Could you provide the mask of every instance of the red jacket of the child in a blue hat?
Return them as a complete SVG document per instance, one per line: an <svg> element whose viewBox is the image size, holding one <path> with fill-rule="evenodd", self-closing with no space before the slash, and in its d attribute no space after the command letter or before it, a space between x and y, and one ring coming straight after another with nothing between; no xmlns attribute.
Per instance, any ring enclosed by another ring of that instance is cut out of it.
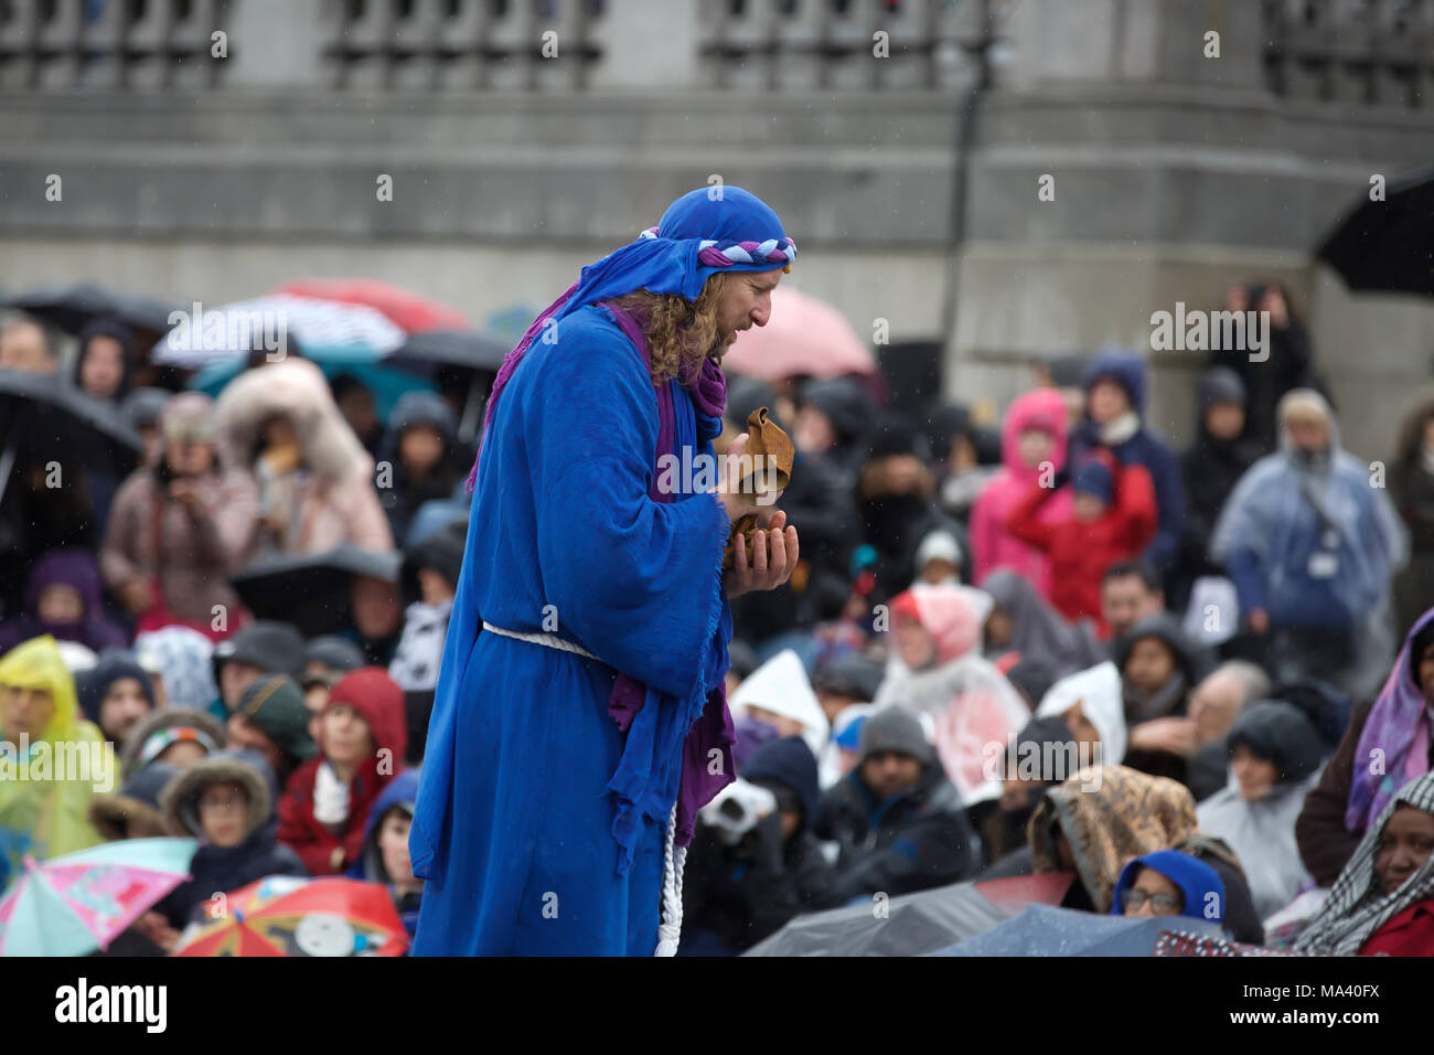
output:
<svg viewBox="0 0 1434 1055"><path fill-rule="evenodd" d="M1073 623L1090 616L1107 634L1100 616L1100 578L1111 564L1134 557L1154 538L1159 510L1150 472L1143 465L1114 466L1116 494L1100 520L1074 517L1043 521L1041 507L1055 488L1035 487L1007 517L1007 530L1051 558L1051 604Z"/></svg>

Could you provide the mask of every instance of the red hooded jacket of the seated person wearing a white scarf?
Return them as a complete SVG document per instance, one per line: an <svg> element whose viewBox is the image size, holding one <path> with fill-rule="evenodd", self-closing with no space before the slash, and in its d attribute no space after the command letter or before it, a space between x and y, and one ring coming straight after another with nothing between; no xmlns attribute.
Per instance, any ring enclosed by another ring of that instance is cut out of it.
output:
<svg viewBox="0 0 1434 1055"><path fill-rule="evenodd" d="M337 833L314 817L314 779L324 764L323 754L294 771L278 801L278 841L298 854L310 876L333 876L358 860L369 810L403 768L407 748L403 690L383 667L363 667L344 675L324 711L340 705L358 712L374 742L374 754L360 764L348 785L348 817ZM337 867L333 861L336 847L344 851L344 860Z"/></svg>

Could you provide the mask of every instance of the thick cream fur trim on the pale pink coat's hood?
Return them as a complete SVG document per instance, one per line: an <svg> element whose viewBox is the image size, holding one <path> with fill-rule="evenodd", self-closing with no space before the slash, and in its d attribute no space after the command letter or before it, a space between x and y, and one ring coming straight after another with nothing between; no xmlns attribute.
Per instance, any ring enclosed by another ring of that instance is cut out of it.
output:
<svg viewBox="0 0 1434 1055"><path fill-rule="evenodd" d="M285 359L241 373L219 393L219 442L228 464L251 465L270 415L294 422L304 464L328 482L373 475L373 458L344 421L323 372L304 359Z"/></svg>

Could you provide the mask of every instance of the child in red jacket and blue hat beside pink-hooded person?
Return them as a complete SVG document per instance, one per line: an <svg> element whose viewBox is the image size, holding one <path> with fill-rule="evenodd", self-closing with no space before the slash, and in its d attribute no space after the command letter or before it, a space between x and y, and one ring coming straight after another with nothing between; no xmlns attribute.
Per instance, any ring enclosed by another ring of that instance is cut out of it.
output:
<svg viewBox="0 0 1434 1055"><path fill-rule="evenodd" d="M1057 488L1032 487L1011 508L1007 528L1050 557L1055 610L1071 623L1090 617L1107 636L1101 578L1111 564L1140 553L1154 535L1154 491L1143 466L1121 468L1108 455L1077 465L1071 491L1071 515L1047 522L1041 512Z"/></svg>

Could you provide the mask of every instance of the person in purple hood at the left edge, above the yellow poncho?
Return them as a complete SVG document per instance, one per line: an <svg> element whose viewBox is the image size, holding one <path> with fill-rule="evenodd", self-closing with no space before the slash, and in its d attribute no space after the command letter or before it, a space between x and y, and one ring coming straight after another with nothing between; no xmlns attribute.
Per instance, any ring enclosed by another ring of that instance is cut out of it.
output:
<svg viewBox="0 0 1434 1055"><path fill-rule="evenodd" d="M87 551L52 550L34 563L24 586L24 611L0 623L0 655L43 634L96 653L129 646L129 636L105 619L99 568Z"/></svg>

